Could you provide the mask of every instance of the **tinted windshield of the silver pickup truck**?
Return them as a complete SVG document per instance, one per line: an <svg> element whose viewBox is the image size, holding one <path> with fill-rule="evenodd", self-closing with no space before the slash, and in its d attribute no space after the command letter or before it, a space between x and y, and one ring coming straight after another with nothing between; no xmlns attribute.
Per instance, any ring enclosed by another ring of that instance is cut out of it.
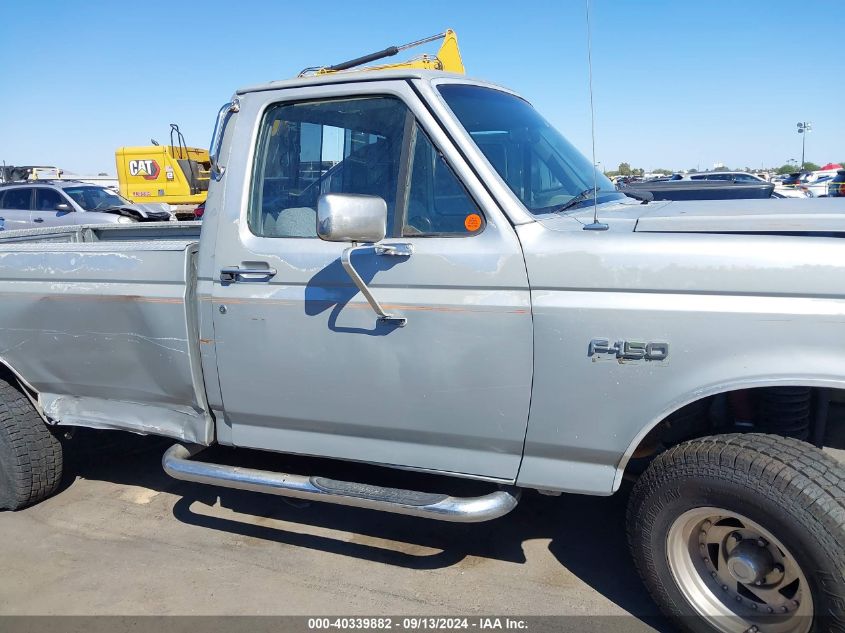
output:
<svg viewBox="0 0 845 633"><path fill-rule="evenodd" d="M625 197L523 99L466 84L442 84L437 89L490 164L532 213L591 205L594 171L599 203ZM587 189L590 195L582 195ZM575 198L580 201L574 202ZM574 203L567 205L570 200Z"/></svg>

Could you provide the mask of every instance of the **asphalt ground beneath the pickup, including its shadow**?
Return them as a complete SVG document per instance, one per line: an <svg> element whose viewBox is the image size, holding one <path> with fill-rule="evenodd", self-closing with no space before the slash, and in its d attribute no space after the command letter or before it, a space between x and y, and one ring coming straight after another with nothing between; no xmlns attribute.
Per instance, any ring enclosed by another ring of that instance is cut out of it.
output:
<svg viewBox="0 0 845 633"><path fill-rule="evenodd" d="M0 513L0 615L546 615L569 616L556 621L577 623L573 630L671 630L631 563L624 490L527 491L501 519L449 524L179 482L161 470L169 444L77 433L61 492ZM385 485L455 484L257 451L207 453ZM479 486L460 485L468 494Z"/></svg>

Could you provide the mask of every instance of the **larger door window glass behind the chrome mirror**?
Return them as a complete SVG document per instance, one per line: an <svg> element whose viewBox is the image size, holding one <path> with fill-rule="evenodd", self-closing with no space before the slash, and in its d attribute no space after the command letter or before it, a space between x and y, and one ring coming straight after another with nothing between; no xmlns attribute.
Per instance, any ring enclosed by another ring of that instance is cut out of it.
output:
<svg viewBox="0 0 845 633"><path fill-rule="evenodd" d="M380 196L395 213L406 106L392 97L279 104L264 116L249 227L263 237L316 237L324 193Z"/></svg>

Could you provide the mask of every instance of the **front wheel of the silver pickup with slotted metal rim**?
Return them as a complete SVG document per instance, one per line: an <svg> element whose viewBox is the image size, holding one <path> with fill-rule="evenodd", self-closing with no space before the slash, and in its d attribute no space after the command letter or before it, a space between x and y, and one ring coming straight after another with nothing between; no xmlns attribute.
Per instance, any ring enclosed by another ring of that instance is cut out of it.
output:
<svg viewBox="0 0 845 633"><path fill-rule="evenodd" d="M761 434L676 446L628 506L634 562L688 631L845 632L845 469Z"/></svg>

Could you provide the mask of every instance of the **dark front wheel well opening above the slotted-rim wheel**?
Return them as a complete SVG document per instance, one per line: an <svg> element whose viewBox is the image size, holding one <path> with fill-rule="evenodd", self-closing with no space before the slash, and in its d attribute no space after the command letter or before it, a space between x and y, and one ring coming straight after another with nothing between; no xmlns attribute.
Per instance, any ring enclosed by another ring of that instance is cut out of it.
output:
<svg viewBox="0 0 845 633"><path fill-rule="evenodd" d="M625 475L636 477L681 442L721 433L769 433L845 449L845 389L757 387L701 398L666 416L640 440Z"/></svg>

